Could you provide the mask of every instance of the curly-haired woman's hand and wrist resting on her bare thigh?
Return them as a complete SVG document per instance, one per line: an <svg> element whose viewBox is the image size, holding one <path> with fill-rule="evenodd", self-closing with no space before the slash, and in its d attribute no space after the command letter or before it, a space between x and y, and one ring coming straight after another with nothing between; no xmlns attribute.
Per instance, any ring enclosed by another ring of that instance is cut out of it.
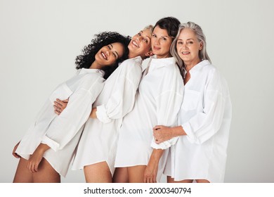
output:
<svg viewBox="0 0 274 197"><path fill-rule="evenodd" d="M27 168L30 170L30 172L37 172L39 163L41 162L44 153L49 149L50 147L46 144L39 144L39 146L36 148L34 153L30 156L29 160L27 161Z"/></svg>

